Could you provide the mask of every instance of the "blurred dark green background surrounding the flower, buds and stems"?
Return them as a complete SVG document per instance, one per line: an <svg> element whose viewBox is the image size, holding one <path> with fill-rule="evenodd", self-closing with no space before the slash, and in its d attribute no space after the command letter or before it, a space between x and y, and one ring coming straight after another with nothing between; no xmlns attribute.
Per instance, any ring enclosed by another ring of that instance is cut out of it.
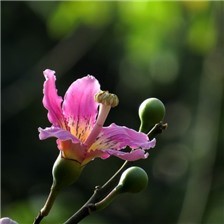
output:
<svg viewBox="0 0 224 224"><path fill-rule="evenodd" d="M86 224L224 223L224 2L1 2L1 216L32 223L52 183L55 139L42 106L43 70L63 96L94 75L119 96L107 124L138 130L148 97L166 106L169 128L147 160L148 188L123 195ZM122 164L96 159L58 197L43 224L60 224Z"/></svg>

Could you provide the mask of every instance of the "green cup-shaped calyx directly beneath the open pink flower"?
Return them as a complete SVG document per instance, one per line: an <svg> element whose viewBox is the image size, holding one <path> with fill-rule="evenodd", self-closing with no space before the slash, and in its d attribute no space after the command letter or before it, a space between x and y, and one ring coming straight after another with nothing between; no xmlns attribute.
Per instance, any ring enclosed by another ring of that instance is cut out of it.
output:
<svg viewBox="0 0 224 224"><path fill-rule="evenodd" d="M83 166L75 160L65 159L59 154L52 169L53 185L61 189L78 180Z"/></svg>

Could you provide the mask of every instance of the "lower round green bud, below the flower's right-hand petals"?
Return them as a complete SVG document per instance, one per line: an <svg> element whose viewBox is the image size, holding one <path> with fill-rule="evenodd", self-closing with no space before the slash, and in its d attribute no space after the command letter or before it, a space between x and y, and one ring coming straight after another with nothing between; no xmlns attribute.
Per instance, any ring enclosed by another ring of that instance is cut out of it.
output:
<svg viewBox="0 0 224 224"><path fill-rule="evenodd" d="M147 184L147 173L142 168L133 166L122 173L117 189L119 189L121 193L138 193L144 190Z"/></svg>

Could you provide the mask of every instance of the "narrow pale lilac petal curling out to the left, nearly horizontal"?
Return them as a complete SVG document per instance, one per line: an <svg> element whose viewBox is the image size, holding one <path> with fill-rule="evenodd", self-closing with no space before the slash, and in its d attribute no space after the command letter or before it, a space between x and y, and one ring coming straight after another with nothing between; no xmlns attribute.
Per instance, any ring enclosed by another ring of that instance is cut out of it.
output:
<svg viewBox="0 0 224 224"><path fill-rule="evenodd" d="M40 132L40 134L39 134L40 140L55 137L62 141L71 140L73 143L79 142L79 139L77 139L75 136L73 136L69 131L66 131L59 127L50 127L50 128L45 128L45 129L38 128L38 131Z"/></svg>

